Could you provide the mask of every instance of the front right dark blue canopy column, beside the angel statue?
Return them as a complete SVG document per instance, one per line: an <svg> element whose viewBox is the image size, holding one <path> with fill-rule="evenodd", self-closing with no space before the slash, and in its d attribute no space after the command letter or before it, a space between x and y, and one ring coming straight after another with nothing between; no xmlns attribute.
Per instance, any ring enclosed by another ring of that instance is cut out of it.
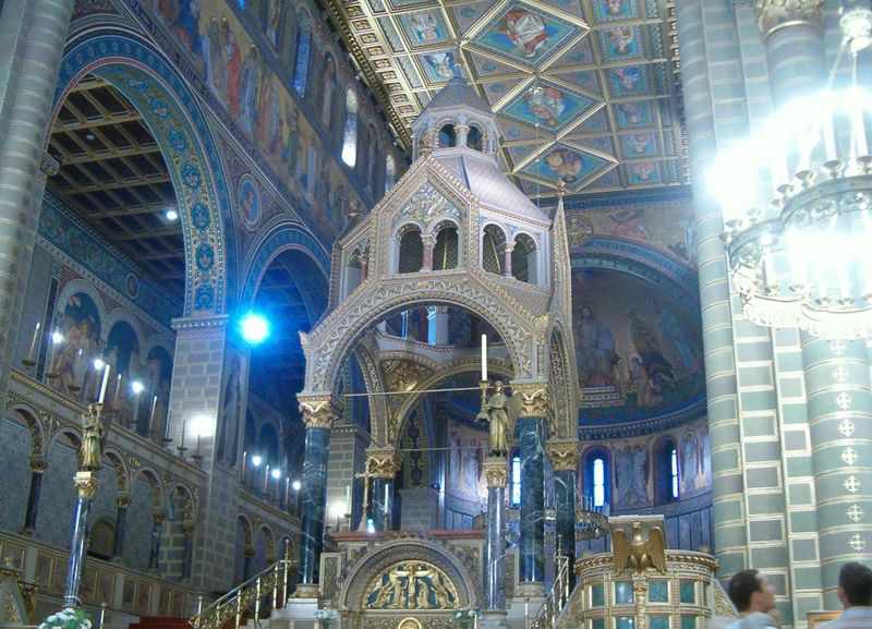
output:
<svg viewBox="0 0 872 629"><path fill-rule="evenodd" d="M518 419L521 446L520 581L524 595L544 595L545 581L545 435L549 413L545 383L512 384L522 396Z"/></svg>

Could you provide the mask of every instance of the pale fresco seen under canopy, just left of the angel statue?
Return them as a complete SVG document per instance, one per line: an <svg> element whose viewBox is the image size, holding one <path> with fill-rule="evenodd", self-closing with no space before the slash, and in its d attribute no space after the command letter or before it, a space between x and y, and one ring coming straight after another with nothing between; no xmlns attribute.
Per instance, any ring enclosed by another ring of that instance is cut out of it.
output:
<svg viewBox="0 0 872 629"><path fill-rule="evenodd" d="M449 467L447 486L464 500L487 500L487 480L482 464L487 452L487 433L461 422L448 425Z"/></svg>

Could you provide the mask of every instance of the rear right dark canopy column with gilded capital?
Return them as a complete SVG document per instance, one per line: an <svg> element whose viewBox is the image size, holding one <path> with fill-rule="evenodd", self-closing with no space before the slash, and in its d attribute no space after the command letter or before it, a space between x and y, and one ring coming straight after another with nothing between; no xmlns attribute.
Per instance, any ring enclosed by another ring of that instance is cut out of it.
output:
<svg viewBox="0 0 872 629"><path fill-rule="evenodd" d="M570 589L576 584L576 484L579 470L579 444L576 440L549 440L546 447L554 468L554 494L557 505L557 554L569 561Z"/></svg>

